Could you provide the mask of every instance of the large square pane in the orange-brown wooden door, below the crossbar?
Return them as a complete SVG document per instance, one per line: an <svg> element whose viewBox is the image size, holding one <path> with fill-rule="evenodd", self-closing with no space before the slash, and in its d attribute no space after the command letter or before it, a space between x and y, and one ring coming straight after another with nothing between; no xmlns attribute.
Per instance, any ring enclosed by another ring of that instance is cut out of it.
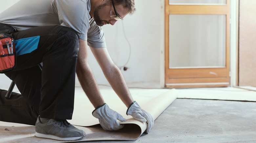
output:
<svg viewBox="0 0 256 143"><path fill-rule="evenodd" d="M169 68L225 67L225 15L169 15Z"/></svg>

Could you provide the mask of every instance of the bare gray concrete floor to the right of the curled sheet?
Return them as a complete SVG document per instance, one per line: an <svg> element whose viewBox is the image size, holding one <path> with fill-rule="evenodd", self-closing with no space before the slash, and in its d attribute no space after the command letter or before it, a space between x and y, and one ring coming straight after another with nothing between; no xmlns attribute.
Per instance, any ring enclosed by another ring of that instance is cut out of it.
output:
<svg viewBox="0 0 256 143"><path fill-rule="evenodd" d="M149 134L93 143L256 143L256 103L176 99Z"/></svg>

